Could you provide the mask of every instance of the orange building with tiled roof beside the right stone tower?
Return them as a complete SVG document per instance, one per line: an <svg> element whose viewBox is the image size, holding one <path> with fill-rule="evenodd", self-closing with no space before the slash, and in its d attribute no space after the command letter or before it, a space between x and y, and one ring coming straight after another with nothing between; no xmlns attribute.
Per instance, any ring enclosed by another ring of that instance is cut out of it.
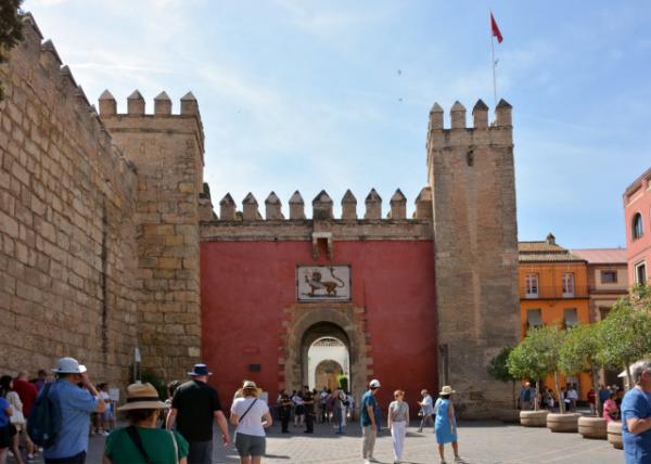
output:
<svg viewBox="0 0 651 464"><path fill-rule="evenodd" d="M532 326L557 324L571 327L590 323L588 263L557 245L552 234L540 242L520 242L520 323L522 338ZM561 387L576 384L586 399L590 376L580 373L560 378ZM545 385L553 389L553 377Z"/></svg>

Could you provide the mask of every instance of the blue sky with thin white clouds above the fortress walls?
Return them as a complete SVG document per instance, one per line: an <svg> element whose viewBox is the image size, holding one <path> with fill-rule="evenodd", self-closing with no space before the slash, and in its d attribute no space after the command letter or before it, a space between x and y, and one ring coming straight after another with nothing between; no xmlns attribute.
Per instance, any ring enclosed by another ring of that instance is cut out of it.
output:
<svg viewBox="0 0 651 464"><path fill-rule="evenodd" d="M426 184L434 102L513 105L520 240L625 245L622 193L651 166L651 2L26 0L91 101L196 95L213 203ZM448 124L446 115L446 125Z"/></svg>

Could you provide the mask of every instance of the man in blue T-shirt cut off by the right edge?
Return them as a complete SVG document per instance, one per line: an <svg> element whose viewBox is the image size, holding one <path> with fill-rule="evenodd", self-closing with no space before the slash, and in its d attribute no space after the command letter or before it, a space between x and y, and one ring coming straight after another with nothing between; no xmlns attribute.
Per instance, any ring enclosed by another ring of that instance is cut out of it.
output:
<svg viewBox="0 0 651 464"><path fill-rule="evenodd" d="M622 401L622 441L626 464L651 463L651 360L630 369L635 387Z"/></svg>

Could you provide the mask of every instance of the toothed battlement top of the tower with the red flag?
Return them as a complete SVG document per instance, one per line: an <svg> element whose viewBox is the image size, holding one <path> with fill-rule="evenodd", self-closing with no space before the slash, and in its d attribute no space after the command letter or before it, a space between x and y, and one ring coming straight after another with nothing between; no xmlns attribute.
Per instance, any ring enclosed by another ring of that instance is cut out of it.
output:
<svg viewBox="0 0 651 464"><path fill-rule="evenodd" d="M473 126L468 127L465 107L455 102L450 108L450 128L444 128L443 108L434 103L430 111L427 129L427 154L432 150L451 146L513 145L512 106L500 100L495 108L495 120L488 124L488 106L478 100L472 109Z"/></svg>

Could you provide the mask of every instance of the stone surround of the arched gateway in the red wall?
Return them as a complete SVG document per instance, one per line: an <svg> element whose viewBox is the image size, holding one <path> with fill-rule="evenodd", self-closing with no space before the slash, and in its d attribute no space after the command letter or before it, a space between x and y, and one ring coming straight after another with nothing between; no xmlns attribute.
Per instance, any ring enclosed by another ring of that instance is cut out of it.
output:
<svg viewBox="0 0 651 464"><path fill-rule="evenodd" d="M283 356L279 359L283 381L280 388L297 389L309 385L308 350L317 340L334 338L342 341L348 351L348 389L355 398L366 390L366 383L373 374L368 357L369 337L366 334L363 309L353 305L333 304L329 307L296 305L285 309L290 313L286 322ZM316 386L322 388L323 386Z"/></svg>

